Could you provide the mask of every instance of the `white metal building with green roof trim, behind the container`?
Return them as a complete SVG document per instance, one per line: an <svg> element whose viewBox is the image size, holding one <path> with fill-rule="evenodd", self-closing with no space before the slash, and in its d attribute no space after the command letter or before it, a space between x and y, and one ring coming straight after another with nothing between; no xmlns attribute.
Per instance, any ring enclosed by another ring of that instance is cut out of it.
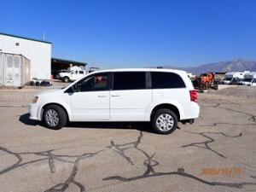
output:
<svg viewBox="0 0 256 192"><path fill-rule="evenodd" d="M31 61L31 78L50 79L51 43L0 33L0 51L26 56Z"/></svg>

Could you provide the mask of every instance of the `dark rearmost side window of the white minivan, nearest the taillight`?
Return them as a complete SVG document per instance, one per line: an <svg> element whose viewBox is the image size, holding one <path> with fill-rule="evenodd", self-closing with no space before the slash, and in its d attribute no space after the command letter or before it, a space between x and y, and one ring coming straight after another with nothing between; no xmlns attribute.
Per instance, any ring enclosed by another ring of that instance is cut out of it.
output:
<svg viewBox="0 0 256 192"><path fill-rule="evenodd" d="M183 79L176 73L152 72L152 89L184 88Z"/></svg>

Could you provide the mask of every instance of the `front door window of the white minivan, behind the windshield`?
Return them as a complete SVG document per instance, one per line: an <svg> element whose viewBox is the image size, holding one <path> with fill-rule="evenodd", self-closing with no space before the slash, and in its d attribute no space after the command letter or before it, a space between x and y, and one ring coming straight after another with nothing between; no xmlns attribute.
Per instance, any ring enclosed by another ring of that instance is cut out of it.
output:
<svg viewBox="0 0 256 192"><path fill-rule="evenodd" d="M78 82L78 91L99 91L108 90L108 73L99 73L91 75Z"/></svg>

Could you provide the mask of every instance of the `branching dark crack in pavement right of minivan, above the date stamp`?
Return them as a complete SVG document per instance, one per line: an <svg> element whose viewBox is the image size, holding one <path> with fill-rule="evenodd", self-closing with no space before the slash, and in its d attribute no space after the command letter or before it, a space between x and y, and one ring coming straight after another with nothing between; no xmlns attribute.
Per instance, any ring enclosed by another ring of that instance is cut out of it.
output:
<svg viewBox="0 0 256 192"><path fill-rule="evenodd" d="M207 150L212 151L212 153L214 153L214 154L218 154L218 156L220 156L220 157L222 157L222 158L226 158L226 157L224 156L224 154L220 154L218 151L212 149L212 148L209 146L209 144L210 144L210 143L214 143L215 140L214 140L212 137L207 136L207 134L222 135L222 136L224 136L224 137L232 137L232 138L236 138L236 137L241 137L241 136L242 136L242 132L239 133L239 135L236 135L236 136L229 136L229 135L224 134L223 132L210 132L210 131L207 131L207 132L191 132L191 131L185 131L185 132L188 132L188 133L190 133L190 134L200 135L200 136L202 136L202 137L207 138L207 140L204 141L204 142L197 142L197 143L190 143L190 144L187 144L187 145L183 145L183 146L182 146L183 148L187 148L187 147L204 148L204 149L207 149Z"/></svg>

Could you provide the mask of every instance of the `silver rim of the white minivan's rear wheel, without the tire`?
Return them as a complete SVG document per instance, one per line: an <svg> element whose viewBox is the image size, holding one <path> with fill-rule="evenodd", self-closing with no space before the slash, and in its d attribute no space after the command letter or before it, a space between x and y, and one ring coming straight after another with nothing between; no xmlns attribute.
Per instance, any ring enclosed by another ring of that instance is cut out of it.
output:
<svg viewBox="0 0 256 192"><path fill-rule="evenodd" d="M160 131L170 131L172 130L173 125L174 120L172 115L168 113L163 113L156 119L156 126Z"/></svg>

